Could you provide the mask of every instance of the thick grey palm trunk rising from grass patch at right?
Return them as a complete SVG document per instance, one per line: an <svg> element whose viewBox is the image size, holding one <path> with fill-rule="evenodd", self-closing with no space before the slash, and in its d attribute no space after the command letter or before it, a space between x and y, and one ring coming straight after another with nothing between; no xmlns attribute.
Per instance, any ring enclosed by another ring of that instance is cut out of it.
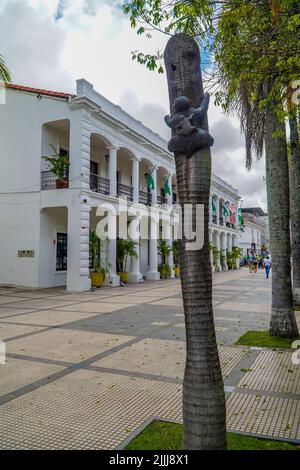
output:
<svg viewBox="0 0 300 470"><path fill-rule="evenodd" d="M272 89L269 83L269 90ZM270 99L266 112L266 175L272 251L272 313L270 335L298 335L291 282L289 173L285 124L278 118L278 102ZM277 135L275 135L275 132ZM280 133L280 136L278 134Z"/></svg>

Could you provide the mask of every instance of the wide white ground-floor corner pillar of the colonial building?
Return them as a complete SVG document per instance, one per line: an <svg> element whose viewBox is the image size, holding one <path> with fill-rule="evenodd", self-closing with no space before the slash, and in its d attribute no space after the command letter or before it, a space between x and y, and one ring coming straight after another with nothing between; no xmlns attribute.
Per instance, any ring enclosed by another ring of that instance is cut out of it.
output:
<svg viewBox="0 0 300 470"><path fill-rule="evenodd" d="M68 207L68 291L82 292L91 288L89 228L89 204L75 201Z"/></svg>

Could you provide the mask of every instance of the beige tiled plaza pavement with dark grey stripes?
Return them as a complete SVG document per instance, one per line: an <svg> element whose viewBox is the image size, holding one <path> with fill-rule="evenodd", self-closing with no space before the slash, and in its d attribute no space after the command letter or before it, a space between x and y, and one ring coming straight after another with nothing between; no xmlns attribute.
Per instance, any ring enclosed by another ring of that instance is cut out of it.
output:
<svg viewBox="0 0 300 470"><path fill-rule="evenodd" d="M228 429L300 442L291 353L232 346L268 327L270 283L216 274L214 314ZM152 416L180 421L184 338L176 280L83 294L0 288L0 448L113 449Z"/></svg>

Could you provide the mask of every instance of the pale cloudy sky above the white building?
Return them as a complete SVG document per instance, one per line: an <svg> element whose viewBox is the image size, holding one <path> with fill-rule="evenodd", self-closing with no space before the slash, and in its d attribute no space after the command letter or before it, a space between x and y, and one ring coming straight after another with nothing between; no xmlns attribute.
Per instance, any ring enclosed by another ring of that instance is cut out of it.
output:
<svg viewBox="0 0 300 470"><path fill-rule="evenodd" d="M168 139L166 76L131 60L131 51L163 51L167 37L136 35L120 9L121 0L0 0L0 53L13 82L75 91L85 78L102 95ZM212 100L213 102L213 100ZM266 209L264 161L245 169L244 139L238 121L213 103L213 171L234 187L243 207Z"/></svg>

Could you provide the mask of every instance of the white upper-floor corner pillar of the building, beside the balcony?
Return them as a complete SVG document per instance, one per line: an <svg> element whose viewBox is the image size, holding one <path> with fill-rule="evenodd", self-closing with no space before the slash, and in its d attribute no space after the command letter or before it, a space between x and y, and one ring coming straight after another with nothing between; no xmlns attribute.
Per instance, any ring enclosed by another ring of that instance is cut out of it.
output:
<svg viewBox="0 0 300 470"><path fill-rule="evenodd" d="M90 189L90 139L89 113L74 113L70 122L70 188Z"/></svg>

